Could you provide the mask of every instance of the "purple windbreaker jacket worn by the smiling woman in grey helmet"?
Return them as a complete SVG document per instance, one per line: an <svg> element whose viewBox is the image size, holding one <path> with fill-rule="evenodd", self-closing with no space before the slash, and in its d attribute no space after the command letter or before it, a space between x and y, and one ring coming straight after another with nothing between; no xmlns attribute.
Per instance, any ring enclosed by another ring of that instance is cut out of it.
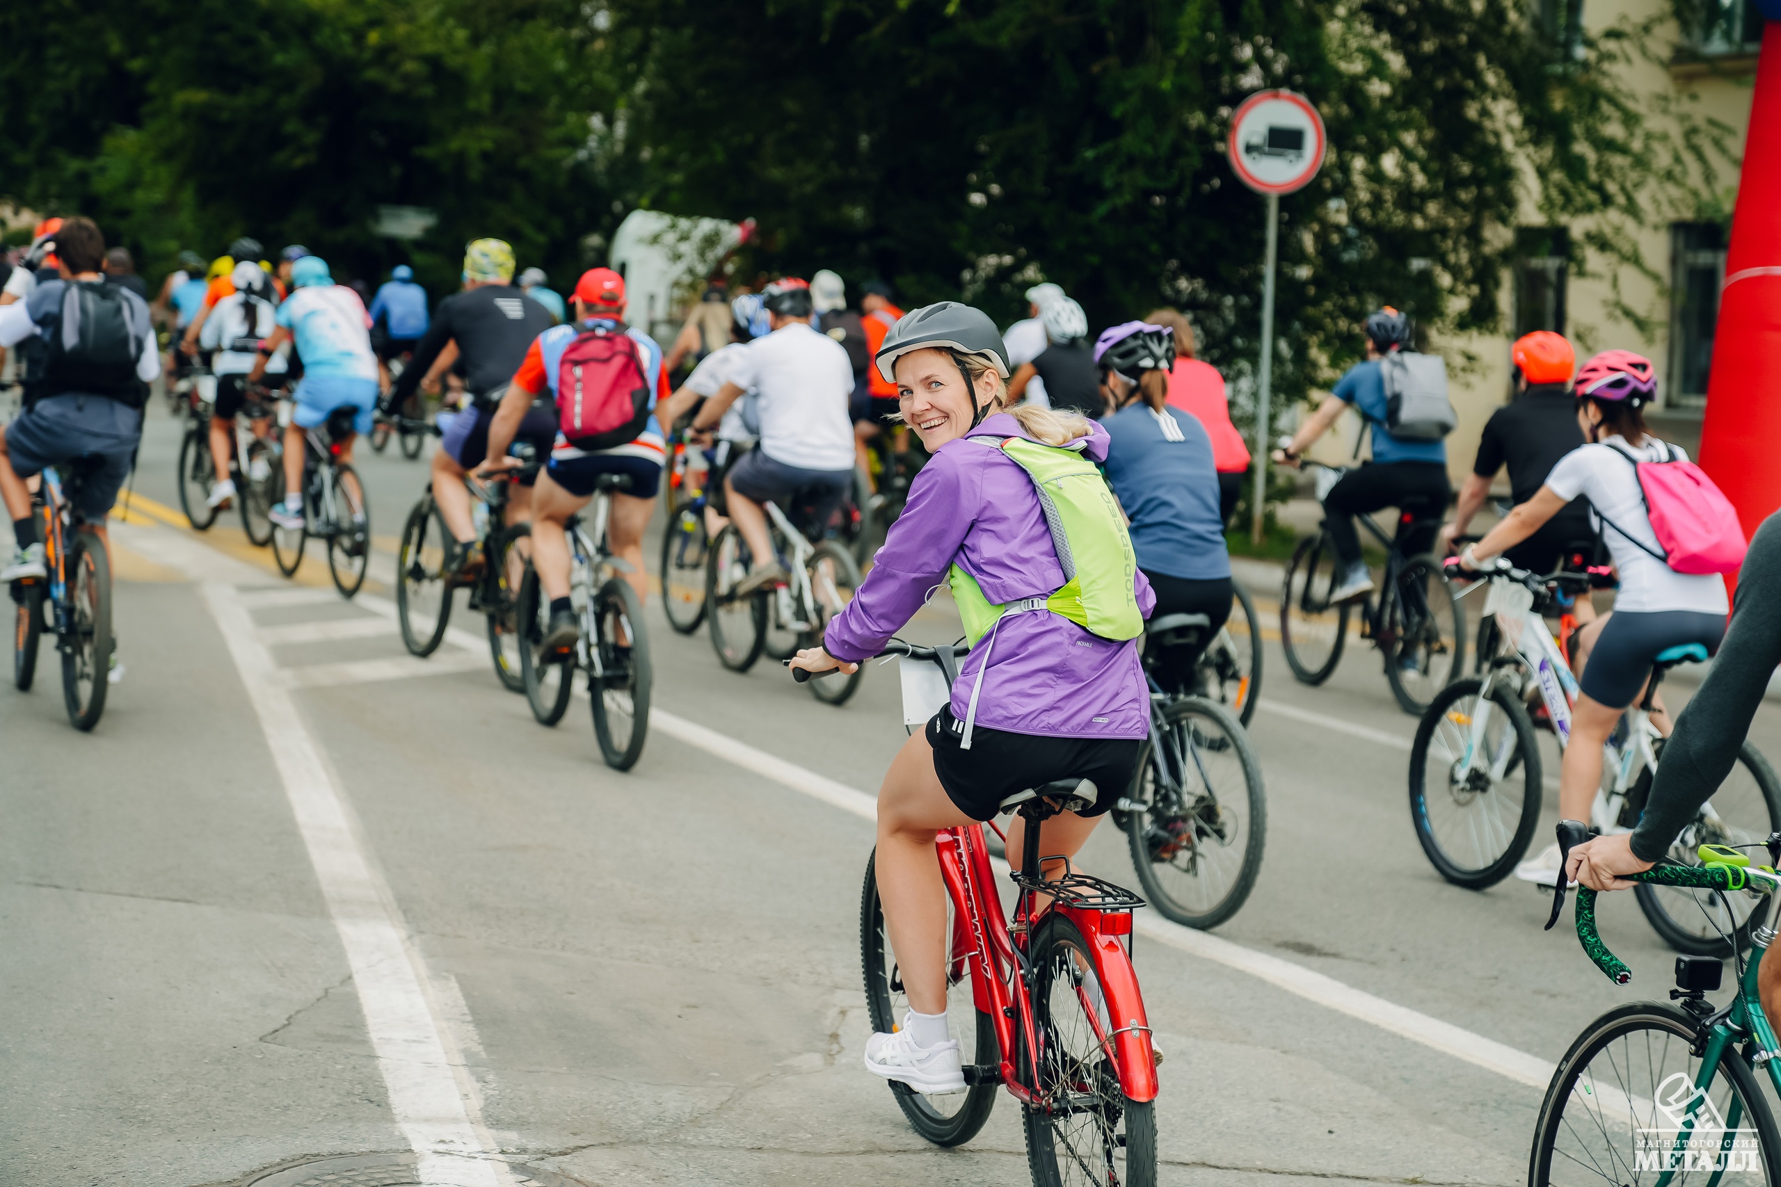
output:
<svg viewBox="0 0 1781 1187"><path fill-rule="evenodd" d="M987 416L965 436L1031 440L1006 413ZM1094 425L1085 454L1106 461L1106 429ZM942 445L915 475L908 505L890 527L871 575L828 623L823 646L837 660L876 655L928 591L946 582L953 561L997 605L1044 598L1063 585L1033 479L1012 457L965 440ZM1134 593L1138 610L1151 618L1156 594L1143 573L1136 573ZM983 650L980 641L953 683L953 715L960 721ZM1003 619L983 674L978 726L1044 737L1143 739L1149 723L1151 694L1136 639L1113 642L1060 614Z"/></svg>

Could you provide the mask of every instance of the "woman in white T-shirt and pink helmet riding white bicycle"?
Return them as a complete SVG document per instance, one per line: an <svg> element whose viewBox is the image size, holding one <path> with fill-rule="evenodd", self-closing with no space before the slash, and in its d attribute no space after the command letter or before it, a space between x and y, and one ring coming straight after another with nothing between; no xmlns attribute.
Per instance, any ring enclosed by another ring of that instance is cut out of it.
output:
<svg viewBox="0 0 1781 1187"><path fill-rule="evenodd" d="M1560 457L1533 498L1460 555L1460 568L1476 569L1582 495L1621 578L1614 612L1583 626L1571 644L1583 690L1571 710L1571 742L1558 774L1560 844L1516 870L1517 877L1546 886L1557 883L1564 851L1589 835L1589 808L1601 785L1601 747L1626 707L1644 696L1653 660L1687 642L1719 651L1731 609L1717 573L1678 573L1660 559L1663 546L1646 514L1637 463L1687 461L1687 456L1646 431L1642 409L1656 395L1651 359L1606 351L1583 363L1574 390L1578 427L1589 443ZM1651 724L1669 737L1662 698L1653 705Z"/></svg>

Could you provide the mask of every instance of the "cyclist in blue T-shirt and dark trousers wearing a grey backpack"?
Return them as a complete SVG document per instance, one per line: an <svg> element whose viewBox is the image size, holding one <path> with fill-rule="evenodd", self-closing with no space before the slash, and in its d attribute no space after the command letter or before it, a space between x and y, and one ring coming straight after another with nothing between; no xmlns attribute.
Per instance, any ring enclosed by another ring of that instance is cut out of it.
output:
<svg viewBox="0 0 1781 1187"><path fill-rule="evenodd" d="M1354 516L1403 507L1407 502L1427 509L1428 514L1419 518L1428 518L1428 539L1407 539L1403 548L1427 552L1446 509L1452 489L1446 480L1446 445L1400 440L1386 427L1389 409L1378 359L1409 343L1411 319L1398 310L1386 306L1368 317L1366 361L1348 368L1348 374L1336 383L1336 392L1305 420L1286 448L1273 450L1275 463L1297 466L1298 456L1311 448L1348 408L1357 409L1373 431L1373 459L1345 473L1323 497L1330 543L1336 545L1336 559L1343 566L1336 589L1330 591L1330 602L1364 598L1373 591L1373 578L1368 577L1366 561L1361 559L1361 536L1355 532Z"/></svg>

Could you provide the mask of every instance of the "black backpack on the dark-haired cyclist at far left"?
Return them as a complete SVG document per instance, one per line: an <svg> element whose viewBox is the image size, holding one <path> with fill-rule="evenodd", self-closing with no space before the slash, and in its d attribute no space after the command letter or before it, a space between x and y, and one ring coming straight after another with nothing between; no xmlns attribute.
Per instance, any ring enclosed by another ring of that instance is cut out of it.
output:
<svg viewBox="0 0 1781 1187"><path fill-rule="evenodd" d="M148 304L119 285L68 281L57 317L39 322L46 342L43 395L103 395L142 408L148 384L135 363L148 342Z"/></svg>

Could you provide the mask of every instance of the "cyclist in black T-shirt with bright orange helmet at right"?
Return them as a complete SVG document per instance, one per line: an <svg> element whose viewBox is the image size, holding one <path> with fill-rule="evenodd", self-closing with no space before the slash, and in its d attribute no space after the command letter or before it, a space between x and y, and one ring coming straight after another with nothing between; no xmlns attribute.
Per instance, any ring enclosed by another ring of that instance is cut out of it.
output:
<svg viewBox="0 0 1781 1187"><path fill-rule="evenodd" d="M1464 536L1471 518L1491 495L1491 480L1509 464L1509 491L1519 507L1535 495L1558 459L1583 443L1576 425L1576 400L1571 399L1571 374L1576 354L1564 335L1537 329L1514 345L1516 399L1491 413L1478 440L1478 459L1466 475L1453 507L1453 520L1441 529L1443 552L1453 550L1453 537ZM1503 555L1530 573L1551 573L1567 552L1582 548L1594 555L1596 532L1589 525L1589 504L1571 502L1541 525L1533 536ZM1596 618L1589 598L1578 598L1578 621Z"/></svg>

